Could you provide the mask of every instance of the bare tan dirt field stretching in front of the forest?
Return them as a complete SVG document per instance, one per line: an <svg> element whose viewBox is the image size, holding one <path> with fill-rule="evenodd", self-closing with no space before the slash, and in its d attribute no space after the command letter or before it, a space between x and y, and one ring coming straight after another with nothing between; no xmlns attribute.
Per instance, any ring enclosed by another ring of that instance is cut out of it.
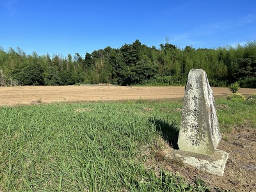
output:
<svg viewBox="0 0 256 192"><path fill-rule="evenodd" d="M228 88L212 88L214 96L230 94ZM255 89L241 88L249 95ZM96 100L175 99L184 96L182 86L15 86L0 87L0 106Z"/></svg>

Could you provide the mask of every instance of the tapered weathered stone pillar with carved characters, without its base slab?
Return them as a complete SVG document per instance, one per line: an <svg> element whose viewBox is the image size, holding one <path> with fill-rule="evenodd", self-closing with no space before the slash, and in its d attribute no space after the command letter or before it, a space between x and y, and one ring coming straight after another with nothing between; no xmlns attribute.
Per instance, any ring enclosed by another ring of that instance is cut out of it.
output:
<svg viewBox="0 0 256 192"><path fill-rule="evenodd" d="M221 140L216 106L207 75L192 69L186 84L178 145L180 150L211 155Z"/></svg>

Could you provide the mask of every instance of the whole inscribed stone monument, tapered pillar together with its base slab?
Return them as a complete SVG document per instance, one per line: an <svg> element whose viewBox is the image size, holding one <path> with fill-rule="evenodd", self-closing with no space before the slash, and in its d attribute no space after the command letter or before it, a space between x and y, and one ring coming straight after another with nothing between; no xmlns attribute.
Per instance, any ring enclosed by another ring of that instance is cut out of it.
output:
<svg viewBox="0 0 256 192"><path fill-rule="evenodd" d="M176 156L182 158L183 163L223 175L228 154L217 149L220 140L216 106L207 75L202 69L192 69L185 88L178 140L180 152Z"/></svg>

